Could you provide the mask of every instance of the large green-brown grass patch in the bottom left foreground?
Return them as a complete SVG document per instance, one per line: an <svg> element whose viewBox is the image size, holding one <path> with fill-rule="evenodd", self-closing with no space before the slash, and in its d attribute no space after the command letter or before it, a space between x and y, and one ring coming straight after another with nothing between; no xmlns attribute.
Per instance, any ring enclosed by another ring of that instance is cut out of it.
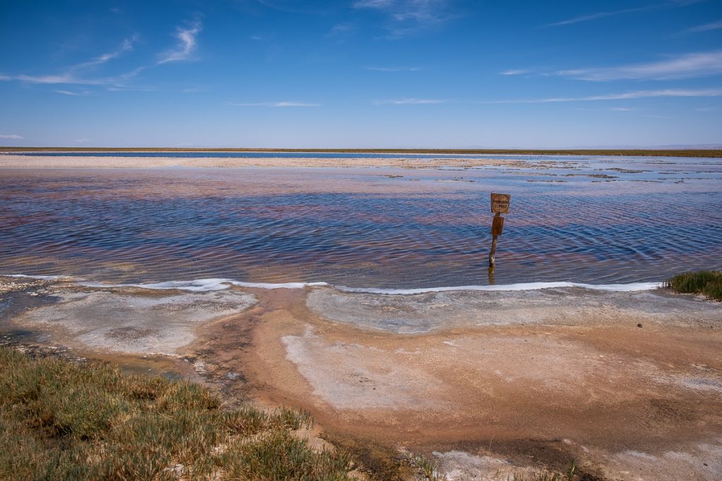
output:
<svg viewBox="0 0 722 481"><path fill-rule="evenodd" d="M304 413L225 410L197 384L0 348L0 479L347 480Z"/></svg>

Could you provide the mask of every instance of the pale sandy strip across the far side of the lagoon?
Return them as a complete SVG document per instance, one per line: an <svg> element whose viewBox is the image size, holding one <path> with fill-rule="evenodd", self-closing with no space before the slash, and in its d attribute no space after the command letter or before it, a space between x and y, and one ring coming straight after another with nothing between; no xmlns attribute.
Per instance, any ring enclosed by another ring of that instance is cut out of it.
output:
<svg viewBox="0 0 722 481"><path fill-rule="evenodd" d="M113 156L25 156L0 154L0 168L13 169L145 169L151 167L529 167L532 163L518 159L284 159L239 157L113 157ZM542 164L549 167L548 164Z"/></svg>

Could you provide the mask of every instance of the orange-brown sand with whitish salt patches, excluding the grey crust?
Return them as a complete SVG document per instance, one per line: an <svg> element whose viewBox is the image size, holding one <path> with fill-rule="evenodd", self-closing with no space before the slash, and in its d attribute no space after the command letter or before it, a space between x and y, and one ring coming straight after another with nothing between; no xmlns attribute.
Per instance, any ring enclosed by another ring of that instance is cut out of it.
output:
<svg viewBox="0 0 722 481"><path fill-rule="evenodd" d="M500 468L474 468L484 455L557 468L574 458L623 480L722 472L719 312L712 328L600 312L397 335L329 322L302 291L258 296L233 321L253 325L251 339L225 323L206 353L242 371L256 399L303 407L333 433L435 451L458 479Z"/></svg>

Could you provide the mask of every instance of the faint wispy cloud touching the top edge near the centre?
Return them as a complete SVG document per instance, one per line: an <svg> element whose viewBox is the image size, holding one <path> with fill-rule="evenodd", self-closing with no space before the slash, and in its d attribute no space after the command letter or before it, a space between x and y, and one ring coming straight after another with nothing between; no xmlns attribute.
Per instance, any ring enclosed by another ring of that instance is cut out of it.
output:
<svg viewBox="0 0 722 481"><path fill-rule="evenodd" d="M356 0L353 6L383 13L384 27L391 38L438 27L453 18L448 11L448 0Z"/></svg>

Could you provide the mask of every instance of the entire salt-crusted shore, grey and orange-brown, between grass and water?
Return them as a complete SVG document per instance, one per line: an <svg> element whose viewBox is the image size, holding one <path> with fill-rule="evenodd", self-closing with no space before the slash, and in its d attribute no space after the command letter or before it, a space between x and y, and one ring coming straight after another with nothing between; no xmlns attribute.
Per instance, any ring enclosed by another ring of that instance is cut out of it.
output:
<svg viewBox="0 0 722 481"><path fill-rule="evenodd" d="M309 410L331 440L425 454L450 480L573 459L587 479L722 473L722 305L694 296L0 281L5 330L101 357L195 356L261 405Z"/></svg>

